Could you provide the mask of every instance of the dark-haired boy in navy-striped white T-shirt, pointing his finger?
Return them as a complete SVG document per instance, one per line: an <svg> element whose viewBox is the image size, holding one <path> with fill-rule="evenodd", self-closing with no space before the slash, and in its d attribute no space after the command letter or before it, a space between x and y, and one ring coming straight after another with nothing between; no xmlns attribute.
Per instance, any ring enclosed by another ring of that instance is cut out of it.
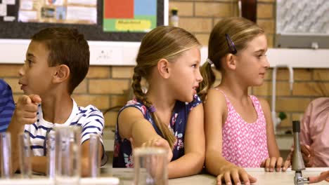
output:
<svg viewBox="0 0 329 185"><path fill-rule="evenodd" d="M91 105L77 107L73 90L89 69L89 46L77 29L46 28L34 34L27 48L19 84L25 95L19 98L8 127L12 135L13 169L18 169L18 134L30 135L32 170L46 172L46 137L54 126L82 127L82 176L89 175L89 135L103 134L104 118ZM101 139L99 153L106 163Z"/></svg>

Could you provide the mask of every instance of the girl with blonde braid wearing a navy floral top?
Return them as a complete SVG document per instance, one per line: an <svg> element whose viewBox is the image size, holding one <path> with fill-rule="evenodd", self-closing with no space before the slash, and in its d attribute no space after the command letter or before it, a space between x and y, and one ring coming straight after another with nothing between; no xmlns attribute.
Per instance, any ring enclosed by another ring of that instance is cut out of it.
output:
<svg viewBox="0 0 329 185"><path fill-rule="evenodd" d="M168 150L169 178L197 174L205 160L203 107L196 94L200 43L179 27L157 27L143 38L136 62L135 99L118 114L113 167L134 167L134 147L159 146Z"/></svg>

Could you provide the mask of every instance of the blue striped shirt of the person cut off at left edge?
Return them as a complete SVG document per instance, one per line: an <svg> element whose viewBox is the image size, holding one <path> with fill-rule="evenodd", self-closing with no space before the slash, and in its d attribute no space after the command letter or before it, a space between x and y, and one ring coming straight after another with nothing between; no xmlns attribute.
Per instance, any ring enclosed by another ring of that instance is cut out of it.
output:
<svg viewBox="0 0 329 185"><path fill-rule="evenodd" d="M11 87L0 79L0 132L6 132L15 109Z"/></svg>

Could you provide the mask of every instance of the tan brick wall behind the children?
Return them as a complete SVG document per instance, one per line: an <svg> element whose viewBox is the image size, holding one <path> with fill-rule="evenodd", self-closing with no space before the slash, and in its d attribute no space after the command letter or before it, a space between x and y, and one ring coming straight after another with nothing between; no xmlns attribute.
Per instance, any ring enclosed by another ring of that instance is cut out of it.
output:
<svg viewBox="0 0 329 185"><path fill-rule="evenodd" d="M179 25L195 34L207 45L209 32L221 18L237 15L236 1L231 0L169 0L169 9L179 8ZM269 47L275 34L275 0L259 0L257 22L264 27ZM1 61L0 61L1 62ZM271 61L270 61L271 62ZM17 71L20 65L0 64L0 78L13 88L14 98L22 94ZM102 111L124 104L129 97L133 67L91 67L86 79L75 90L73 97L81 106L93 104ZM277 75L276 111L284 111L288 119L279 125L290 127L292 119L302 116L307 104L316 97L329 96L329 69L295 69L295 83L289 90L288 70L279 69ZM217 73L219 74L219 73ZM220 76L220 75L219 75ZM265 97L271 103L271 70L262 87L252 88L254 95ZM117 111L105 114L105 125L114 126Z"/></svg>

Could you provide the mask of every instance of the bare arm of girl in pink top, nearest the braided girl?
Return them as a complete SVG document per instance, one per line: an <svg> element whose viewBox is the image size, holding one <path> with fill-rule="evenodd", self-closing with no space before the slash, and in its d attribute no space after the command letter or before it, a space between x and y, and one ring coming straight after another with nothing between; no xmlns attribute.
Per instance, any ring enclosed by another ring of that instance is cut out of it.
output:
<svg viewBox="0 0 329 185"><path fill-rule="evenodd" d="M251 177L242 167L237 167L228 162L222 156L222 125L227 114L226 100L218 90L211 89L207 94L205 106L205 138L206 156L205 165L207 170L217 175L217 183L225 181L226 184L240 183L240 179L245 184L254 183L256 179Z"/></svg>

